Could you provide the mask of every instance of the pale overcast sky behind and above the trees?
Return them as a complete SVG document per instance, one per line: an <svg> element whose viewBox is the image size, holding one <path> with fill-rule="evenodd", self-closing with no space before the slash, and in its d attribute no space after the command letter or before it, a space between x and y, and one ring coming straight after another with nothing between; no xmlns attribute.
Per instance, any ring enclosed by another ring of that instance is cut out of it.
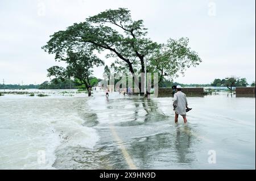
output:
<svg viewBox="0 0 256 181"><path fill-rule="evenodd" d="M189 37L203 62L175 81L210 83L230 75L255 81L254 0L1 0L0 82L49 80L46 69L63 65L41 49L49 35L118 7L131 10L134 20L143 19L148 36L158 43ZM100 78L102 71L96 68L94 75Z"/></svg>

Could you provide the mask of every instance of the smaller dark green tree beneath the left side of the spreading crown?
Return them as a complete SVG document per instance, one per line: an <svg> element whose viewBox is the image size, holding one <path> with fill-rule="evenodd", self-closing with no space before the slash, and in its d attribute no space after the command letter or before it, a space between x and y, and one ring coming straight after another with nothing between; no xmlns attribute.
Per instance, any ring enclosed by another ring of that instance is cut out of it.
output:
<svg viewBox="0 0 256 181"><path fill-rule="evenodd" d="M96 57L92 52L72 52L68 50L66 58L61 58L67 63L67 68L60 66L52 66L47 69L48 77L55 76L56 78L65 79L73 77L85 85L90 96L90 89L92 87L89 77L92 75L92 68L94 66L104 65L104 62Z"/></svg>

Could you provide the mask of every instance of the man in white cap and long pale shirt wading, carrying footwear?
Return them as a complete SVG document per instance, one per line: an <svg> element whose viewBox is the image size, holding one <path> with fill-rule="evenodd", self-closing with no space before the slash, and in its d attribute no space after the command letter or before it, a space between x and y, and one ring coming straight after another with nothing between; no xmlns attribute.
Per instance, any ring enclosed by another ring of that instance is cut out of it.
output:
<svg viewBox="0 0 256 181"><path fill-rule="evenodd" d="M179 115L183 117L184 123L187 123L186 108L189 109L188 100L186 95L181 92L181 88L181 86L176 86L177 92L174 94L175 123L177 123Z"/></svg>

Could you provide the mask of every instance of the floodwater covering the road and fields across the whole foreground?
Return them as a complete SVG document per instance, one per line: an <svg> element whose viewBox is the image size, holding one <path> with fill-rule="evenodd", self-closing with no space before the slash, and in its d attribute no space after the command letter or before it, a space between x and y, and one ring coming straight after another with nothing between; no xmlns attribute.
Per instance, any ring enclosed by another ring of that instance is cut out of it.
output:
<svg viewBox="0 0 256 181"><path fill-rule="evenodd" d="M255 169L255 97L0 96L0 169Z"/></svg>

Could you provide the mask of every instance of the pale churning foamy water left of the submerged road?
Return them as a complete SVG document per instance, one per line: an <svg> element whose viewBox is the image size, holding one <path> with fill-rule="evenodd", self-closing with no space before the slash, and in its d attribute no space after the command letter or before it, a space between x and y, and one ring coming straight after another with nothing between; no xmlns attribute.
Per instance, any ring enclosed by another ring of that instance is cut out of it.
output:
<svg viewBox="0 0 256 181"><path fill-rule="evenodd" d="M57 149L93 149L99 137L95 129L82 126L85 120L72 106L77 99L2 99L0 169L55 169Z"/></svg>

